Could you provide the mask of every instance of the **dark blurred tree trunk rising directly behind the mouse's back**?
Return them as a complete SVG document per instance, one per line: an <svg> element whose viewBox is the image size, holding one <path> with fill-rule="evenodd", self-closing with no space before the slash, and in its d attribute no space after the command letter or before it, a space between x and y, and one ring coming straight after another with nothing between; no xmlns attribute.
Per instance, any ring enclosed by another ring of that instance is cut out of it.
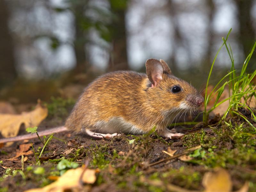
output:
<svg viewBox="0 0 256 192"><path fill-rule="evenodd" d="M127 70L125 13L127 0L109 0L111 11L114 13L111 23L112 52L110 53L108 70Z"/></svg>

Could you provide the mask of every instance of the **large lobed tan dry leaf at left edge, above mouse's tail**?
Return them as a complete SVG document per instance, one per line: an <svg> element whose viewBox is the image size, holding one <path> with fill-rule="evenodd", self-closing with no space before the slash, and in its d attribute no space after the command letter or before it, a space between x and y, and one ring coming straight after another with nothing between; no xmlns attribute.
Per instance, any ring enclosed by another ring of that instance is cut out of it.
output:
<svg viewBox="0 0 256 192"><path fill-rule="evenodd" d="M38 126L47 116L48 110L41 105L40 100L36 108L20 115L0 114L0 132L3 137L15 137L22 124L25 128Z"/></svg>

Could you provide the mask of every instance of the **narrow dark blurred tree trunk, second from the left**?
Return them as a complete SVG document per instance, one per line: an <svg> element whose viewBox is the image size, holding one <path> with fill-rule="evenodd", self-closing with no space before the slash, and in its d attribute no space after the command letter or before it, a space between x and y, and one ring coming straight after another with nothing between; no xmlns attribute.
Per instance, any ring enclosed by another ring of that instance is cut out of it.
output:
<svg viewBox="0 0 256 192"><path fill-rule="evenodd" d="M82 3L75 3L73 10L75 15L75 41L74 49L76 55L76 68L75 72L87 72L89 68L89 62L87 62L85 54L85 34L82 28L82 20L84 19L84 6L86 6L87 1Z"/></svg>

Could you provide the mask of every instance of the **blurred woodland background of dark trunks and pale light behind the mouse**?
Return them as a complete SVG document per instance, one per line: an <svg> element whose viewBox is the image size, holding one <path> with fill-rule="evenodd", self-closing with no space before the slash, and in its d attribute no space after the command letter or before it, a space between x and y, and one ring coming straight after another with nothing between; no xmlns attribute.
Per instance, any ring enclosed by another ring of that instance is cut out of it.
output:
<svg viewBox="0 0 256 192"><path fill-rule="evenodd" d="M77 98L103 73L145 72L149 58L201 89L230 28L242 66L256 39L256 0L0 0L0 26L0 100ZM224 48L212 83L229 68Z"/></svg>

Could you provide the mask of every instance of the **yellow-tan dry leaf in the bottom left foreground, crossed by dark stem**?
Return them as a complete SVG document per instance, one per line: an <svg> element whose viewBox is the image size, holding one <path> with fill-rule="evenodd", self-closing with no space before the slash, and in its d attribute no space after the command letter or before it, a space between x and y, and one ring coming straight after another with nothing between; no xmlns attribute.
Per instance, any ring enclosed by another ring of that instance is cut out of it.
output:
<svg viewBox="0 0 256 192"><path fill-rule="evenodd" d="M69 169L66 173L64 173L57 181L51 183L50 185L45 186L44 188L35 188L29 189L25 192L63 192L68 191L71 188L80 188L80 176L83 174L82 181L84 183L93 184L96 180L97 170L86 169L79 167L77 169Z"/></svg>

